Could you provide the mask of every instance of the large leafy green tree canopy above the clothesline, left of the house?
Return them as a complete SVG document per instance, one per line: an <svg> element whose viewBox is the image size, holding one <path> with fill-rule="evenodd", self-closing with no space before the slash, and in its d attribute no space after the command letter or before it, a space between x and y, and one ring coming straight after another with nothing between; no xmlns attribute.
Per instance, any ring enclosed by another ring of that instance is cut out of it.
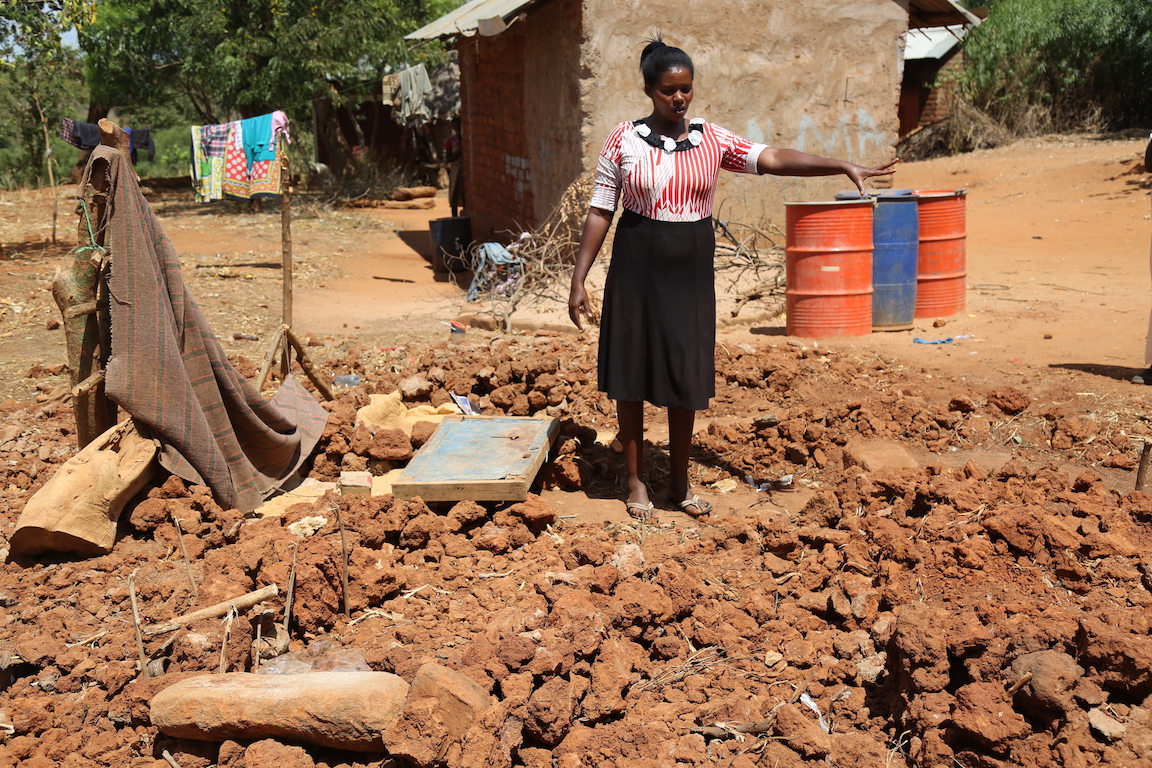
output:
<svg viewBox="0 0 1152 768"><path fill-rule="evenodd" d="M92 97L185 98L206 123L311 102L408 59L403 36L455 0L103 0L81 35ZM435 55L435 50L419 55Z"/></svg>

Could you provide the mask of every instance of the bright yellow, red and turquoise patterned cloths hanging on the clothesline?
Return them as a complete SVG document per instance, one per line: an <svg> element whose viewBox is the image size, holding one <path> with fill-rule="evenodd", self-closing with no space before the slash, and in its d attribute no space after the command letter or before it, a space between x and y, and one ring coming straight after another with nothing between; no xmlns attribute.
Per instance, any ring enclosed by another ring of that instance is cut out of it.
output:
<svg viewBox="0 0 1152 768"><path fill-rule="evenodd" d="M291 143L288 115L280 109L248 120L192 126L191 139L198 203L280 196L280 154L283 144Z"/></svg>

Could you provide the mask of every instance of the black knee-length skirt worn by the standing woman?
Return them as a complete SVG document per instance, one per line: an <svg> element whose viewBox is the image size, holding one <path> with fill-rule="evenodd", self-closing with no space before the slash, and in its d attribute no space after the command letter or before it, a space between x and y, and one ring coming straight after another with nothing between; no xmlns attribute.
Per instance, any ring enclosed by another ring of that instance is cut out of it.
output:
<svg viewBox="0 0 1152 768"><path fill-rule="evenodd" d="M599 389L612 400L702 411L715 395L712 220L624 211L604 287Z"/></svg>

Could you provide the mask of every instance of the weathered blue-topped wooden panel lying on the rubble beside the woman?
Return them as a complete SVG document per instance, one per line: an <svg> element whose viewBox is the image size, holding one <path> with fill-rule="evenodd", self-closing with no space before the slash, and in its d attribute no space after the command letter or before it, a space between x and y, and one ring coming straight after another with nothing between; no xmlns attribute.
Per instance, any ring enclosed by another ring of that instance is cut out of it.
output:
<svg viewBox="0 0 1152 768"><path fill-rule="evenodd" d="M559 431L553 418L446 417L392 493L404 500L524 501Z"/></svg>

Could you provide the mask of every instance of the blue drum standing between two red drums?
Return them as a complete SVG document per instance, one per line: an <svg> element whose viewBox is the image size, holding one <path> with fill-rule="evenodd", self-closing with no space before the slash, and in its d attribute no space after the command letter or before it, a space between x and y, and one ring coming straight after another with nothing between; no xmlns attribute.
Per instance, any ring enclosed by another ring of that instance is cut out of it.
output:
<svg viewBox="0 0 1152 768"><path fill-rule="evenodd" d="M869 191L872 213L872 330L907 330L916 315L918 196L910 189ZM840 192L839 200L859 199Z"/></svg>

